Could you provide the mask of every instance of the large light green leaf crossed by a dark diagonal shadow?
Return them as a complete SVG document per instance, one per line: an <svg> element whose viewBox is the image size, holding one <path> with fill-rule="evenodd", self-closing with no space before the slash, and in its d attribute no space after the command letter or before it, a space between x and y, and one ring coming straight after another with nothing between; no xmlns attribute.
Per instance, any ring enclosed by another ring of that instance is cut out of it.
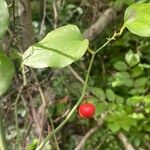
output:
<svg viewBox="0 0 150 150"><path fill-rule="evenodd" d="M33 68L62 68L79 60L89 41L75 25L66 25L50 33L23 54L23 64Z"/></svg>

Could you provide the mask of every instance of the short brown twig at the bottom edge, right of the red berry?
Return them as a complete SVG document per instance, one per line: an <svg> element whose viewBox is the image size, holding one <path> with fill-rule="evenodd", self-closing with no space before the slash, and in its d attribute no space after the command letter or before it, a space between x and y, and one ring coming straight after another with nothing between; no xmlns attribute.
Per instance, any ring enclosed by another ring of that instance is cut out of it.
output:
<svg viewBox="0 0 150 150"><path fill-rule="evenodd" d="M117 136L122 142L125 150L135 150L134 147L129 143L127 137L122 132L119 132Z"/></svg>

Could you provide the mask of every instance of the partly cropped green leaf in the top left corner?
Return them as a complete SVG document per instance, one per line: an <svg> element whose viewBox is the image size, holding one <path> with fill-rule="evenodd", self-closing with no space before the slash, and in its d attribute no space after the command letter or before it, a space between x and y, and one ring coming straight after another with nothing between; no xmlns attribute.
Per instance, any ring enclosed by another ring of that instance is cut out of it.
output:
<svg viewBox="0 0 150 150"><path fill-rule="evenodd" d="M0 39L8 28L9 13L5 0L0 0Z"/></svg>

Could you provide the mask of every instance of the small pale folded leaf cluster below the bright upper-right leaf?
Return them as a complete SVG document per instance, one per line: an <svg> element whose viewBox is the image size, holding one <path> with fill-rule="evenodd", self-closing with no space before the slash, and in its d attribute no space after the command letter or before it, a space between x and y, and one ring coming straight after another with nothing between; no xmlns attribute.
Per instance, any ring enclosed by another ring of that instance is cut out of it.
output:
<svg viewBox="0 0 150 150"><path fill-rule="evenodd" d="M137 53L133 53L133 51L130 50L126 53L125 60L130 67L133 67L140 62L140 57Z"/></svg>

